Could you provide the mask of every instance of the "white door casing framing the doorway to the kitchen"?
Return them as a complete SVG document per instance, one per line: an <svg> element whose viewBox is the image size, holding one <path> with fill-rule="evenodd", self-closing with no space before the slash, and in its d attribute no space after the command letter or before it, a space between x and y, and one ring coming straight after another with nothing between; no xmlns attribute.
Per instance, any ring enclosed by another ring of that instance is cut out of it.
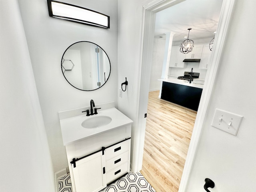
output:
<svg viewBox="0 0 256 192"><path fill-rule="evenodd" d="M176 3L178 1L175 1ZM166 3L168 4L168 6L166 6ZM174 3L174 1L168 1L168 2L164 2L164 3L159 3L159 4L154 4L154 5L146 5L144 6L144 10L143 10L143 15L144 15L144 20L142 21L142 28L143 29L152 29L152 26L154 26L154 24L152 24L152 21L154 21L155 18L155 13L163 10L166 7L170 7L172 6ZM230 16L232 14L232 8L233 8L233 4L234 4L234 0L224 0L224 3L222 5L222 11L220 14L220 21L219 21L219 28L218 28L218 32L216 34L216 41L215 41L215 51L213 50L212 52L212 56L210 59L210 63L212 64L210 66L210 68L208 69L207 72L207 78L205 81L205 88L203 90L202 93L202 97L201 97L201 102L198 108L198 114L196 116L196 122L194 125L194 131L192 134L192 138L191 138L191 142L190 142L190 146L189 146L189 150L188 150L188 154L187 154L187 158L186 158L186 164L184 166L184 170L183 170L183 174L182 174L182 179L180 182L180 186L179 186L179 191L180 192L184 192L185 188L186 188L186 184L188 182L188 177L189 177L189 173L192 167L192 162L194 159L194 155L196 153L196 146L198 144L198 139L200 136L200 132L202 130L202 123L204 120L204 116L205 116L205 112L206 112L206 108L208 106L208 102L210 100L210 95L212 92L212 88L213 88L213 83L214 83L214 79L216 77L216 72L218 69L218 64L220 61L220 55L221 55L221 50L223 48L224 45L224 39L226 37L226 32L227 32L227 26L230 20ZM144 30L143 30L144 31ZM219 36L219 38L217 38ZM147 47L147 49L142 50L142 74L141 74L141 79L143 82L149 82L149 75L150 74L150 68L148 67L148 63L151 63L150 61L150 54L152 54L152 50L153 50L153 44L152 44L152 30L149 32L142 32L142 47ZM142 114L145 110L145 102L148 102L147 99L148 98L148 87L144 86L144 87L140 87L140 101L144 100L144 102L140 102L139 108L138 108L138 112L139 114ZM140 113L141 112L141 113ZM139 122L138 124L143 124L143 120L142 118L139 118ZM195 129L196 128L196 129ZM137 138L144 138L144 133L143 132L138 132L138 137ZM144 140L141 140L140 142L138 142L137 146L143 146ZM142 148L138 148L136 154L138 156L138 158L136 158L136 163L135 163L135 170L137 168L140 167L140 161L142 163Z"/></svg>

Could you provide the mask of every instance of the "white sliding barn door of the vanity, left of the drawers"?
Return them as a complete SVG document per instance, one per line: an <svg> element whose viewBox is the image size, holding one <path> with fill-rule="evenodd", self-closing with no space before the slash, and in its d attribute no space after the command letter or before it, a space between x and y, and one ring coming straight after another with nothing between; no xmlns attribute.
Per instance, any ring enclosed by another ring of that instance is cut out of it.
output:
<svg viewBox="0 0 256 192"><path fill-rule="evenodd" d="M72 166L76 192L98 192L107 186L105 155L102 151L76 162Z"/></svg>

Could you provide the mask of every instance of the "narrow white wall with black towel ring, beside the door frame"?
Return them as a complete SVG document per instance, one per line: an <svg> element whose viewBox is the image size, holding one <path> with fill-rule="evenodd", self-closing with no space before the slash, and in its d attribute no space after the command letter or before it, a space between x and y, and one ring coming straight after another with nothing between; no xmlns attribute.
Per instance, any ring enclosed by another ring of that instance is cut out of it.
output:
<svg viewBox="0 0 256 192"><path fill-rule="evenodd" d="M118 109L131 118L131 169L134 168L134 158L137 142L138 127L138 90L140 83L140 24L142 17L142 4L146 0L118 0L118 88L127 78L126 92L122 98L118 97ZM142 130L143 131L143 130ZM144 138L142 138L144 140Z"/></svg>

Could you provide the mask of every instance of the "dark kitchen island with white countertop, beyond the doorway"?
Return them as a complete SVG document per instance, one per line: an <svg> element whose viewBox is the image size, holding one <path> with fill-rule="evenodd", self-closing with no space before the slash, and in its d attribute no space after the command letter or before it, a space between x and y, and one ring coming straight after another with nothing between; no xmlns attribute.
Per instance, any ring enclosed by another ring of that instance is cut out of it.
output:
<svg viewBox="0 0 256 192"><path fill-rule="evenodd" d="M163 80L161 99L197 111L203 90L202 83L185 80Z"/></svg>

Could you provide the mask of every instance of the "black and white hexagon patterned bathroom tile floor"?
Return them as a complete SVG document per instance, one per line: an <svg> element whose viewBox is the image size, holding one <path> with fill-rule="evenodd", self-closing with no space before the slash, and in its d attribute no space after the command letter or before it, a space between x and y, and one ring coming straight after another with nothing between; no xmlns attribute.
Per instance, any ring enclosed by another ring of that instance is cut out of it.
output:
<svg viewBox="0 0 256 192"><path fill-rule="evenodd" d="M59 192L72 192L70 175L58 178ZM128 173L100 192L156 192L150 183L139 173Z"/></svg>

